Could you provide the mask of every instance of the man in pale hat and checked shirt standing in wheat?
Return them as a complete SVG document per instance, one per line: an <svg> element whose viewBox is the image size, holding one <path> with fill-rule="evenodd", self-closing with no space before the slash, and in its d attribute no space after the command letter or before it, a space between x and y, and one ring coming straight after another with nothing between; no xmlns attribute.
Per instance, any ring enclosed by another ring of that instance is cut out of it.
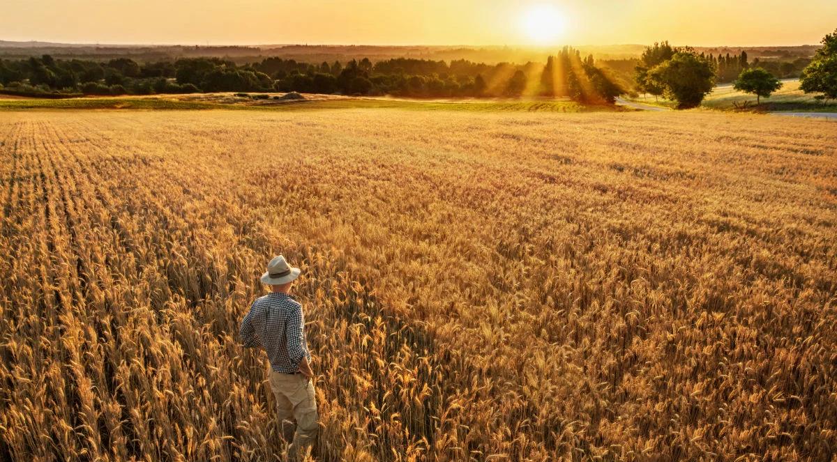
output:
<svg viewBox="0 0 837 462"><path fill-rule="evenodd" d="M270 359L270 389L276 397L282 437L285 441L293 437L288 446L291 459L313 446L319 430L305 318L302 305L290 295L290 286L299 275L300 269L290 267L284 256L270 260L261 277L270 285L270 293L256 299L241 321L244 347L260 346Z"/></svg>

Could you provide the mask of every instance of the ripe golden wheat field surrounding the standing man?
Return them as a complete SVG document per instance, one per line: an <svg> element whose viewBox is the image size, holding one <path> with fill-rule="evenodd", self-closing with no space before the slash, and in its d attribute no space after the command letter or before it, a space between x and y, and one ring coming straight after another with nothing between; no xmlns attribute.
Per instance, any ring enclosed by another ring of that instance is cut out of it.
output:
<svg viewBox="0 0 837 462"><path fill-rule="evenodd" d="M0 460L837 460L837 131L724 113L0 113Z"/></svg>

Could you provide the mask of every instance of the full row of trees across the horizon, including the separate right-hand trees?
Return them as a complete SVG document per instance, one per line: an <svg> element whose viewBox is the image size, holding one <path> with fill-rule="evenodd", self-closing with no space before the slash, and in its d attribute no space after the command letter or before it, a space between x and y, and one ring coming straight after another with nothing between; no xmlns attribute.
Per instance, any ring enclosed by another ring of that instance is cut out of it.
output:
<svg viewBox="0 0 837 462"><path fill-rule="evenodd" d="M813 59L770 64L747 53L698 54L668 42L644 49L634 69L635 90L665 96L678 107L700 105L716 83L732 81L738 90L769 97L781 83L776 74L801 70L802 88L824 99L837 98L837 31L828 34ZM627 63L628 61L626 61ZM768 65L769 64L769 65ZM791 69L793 67L793 69ZM779 69L778 72L776 69ZM149 95L197 92L290 92L406 97L565 97L584 103L613 103L626 93L614 73L593 56L564 47L546 63L485 64L466 59L445 62L394 58L372 63L352 59L311 64L270 57L235 64L229 59L186 58L137 63L129 58L106 62L54 59L0 59L0 85L7 92L31 95Z"/></svg>

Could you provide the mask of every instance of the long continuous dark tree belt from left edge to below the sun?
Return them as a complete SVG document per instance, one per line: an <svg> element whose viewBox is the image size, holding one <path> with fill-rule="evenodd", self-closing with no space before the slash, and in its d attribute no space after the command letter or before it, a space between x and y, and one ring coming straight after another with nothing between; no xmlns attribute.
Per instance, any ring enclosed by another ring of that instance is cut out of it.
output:
<svg viewBox="0 0 837 462"><path fill-rule="evenodd" d="M465 59L352 59L346 64L310 64L276 57L237 65L220 58L190 58L140 64L129 58L96 62L0 59L0 85L30 93L148 95L218 91L298 91L342 95L410 97L564 96L611 103L624 90L593 57L564 48L546 64L485 64Z"/></svg>

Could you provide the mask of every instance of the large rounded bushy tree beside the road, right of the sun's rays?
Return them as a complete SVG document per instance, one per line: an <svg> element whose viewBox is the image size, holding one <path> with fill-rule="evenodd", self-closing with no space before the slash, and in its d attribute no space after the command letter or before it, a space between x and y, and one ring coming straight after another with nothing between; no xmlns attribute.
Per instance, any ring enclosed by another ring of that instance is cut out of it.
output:
<svg viewBox="0 0 837 462"><path fill-rule="evenodd" d="M715 70L694 51L681 50L668 61L650 69L649 78L664 89L665 95L677 101L679 109L700 105L703 97L715 86Z"/></svg>

